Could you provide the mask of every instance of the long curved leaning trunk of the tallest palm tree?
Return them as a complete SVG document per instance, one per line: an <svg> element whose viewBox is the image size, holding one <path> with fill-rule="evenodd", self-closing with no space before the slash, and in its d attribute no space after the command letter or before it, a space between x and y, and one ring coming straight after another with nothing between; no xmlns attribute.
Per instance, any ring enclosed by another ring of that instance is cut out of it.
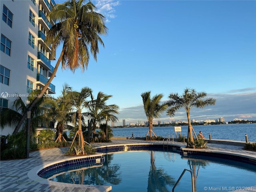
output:
<svg viewBox="0 0 256 192"><path fill-rule="evenodd" d="M26 109L26 111L24 112L22 118L21 118L20 121L18 122L18 125L15 127L15 129L14 129L14 131L13 131L13 134L17 134L17 133L19 132L22 123L24 122L24 120L25 120L26 117L27 117L27 112L28 112L29 110L31 110L31 109L35 106L35 104L40 100L40 98L41 98L41 97L44 95L44 93L46 92L48 86L50 85L50 83L52 82L53 78L54 78L55 75L56 75L56 72L57 72L57 70L58 70L58 66L60 65L60 61L62 60L62 56L63 56L63 54L64 54L64 51L65 51L65 48L64 48L64 46L63 46L62 52L61 52L60 57L59 57L59 59L58 59L58 61L57 61L57 63L56 63L56 66L55 66L55 68L54 68L54 70L53 70L53 72L52 72L52 75L50 76L50 79L47 81L47 83L45 84L44 88L41 90L39 96L36 97L36 98L32 101L32 103L30 104L30 106Z"/></svg>

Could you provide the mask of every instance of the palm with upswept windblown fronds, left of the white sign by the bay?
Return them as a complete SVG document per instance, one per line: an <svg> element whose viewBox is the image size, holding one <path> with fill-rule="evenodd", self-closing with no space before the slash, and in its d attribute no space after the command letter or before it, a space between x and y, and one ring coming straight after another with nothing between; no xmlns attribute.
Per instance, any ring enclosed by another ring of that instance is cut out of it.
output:
<svg viewBox="0 0 256 192"><path fill-rule="evenodd" d="M166 110L167 105L165 103L161 103L161 99L163 98L163 94L156 94L151 98L150 91L144 92L141 94L142 101L144 104L144 112L146 117L148 118L148 134L150 134L150 140L152 138L152 133L154 136L156 134L153 132L153 118L160 118L162 112ZM157 137L157 136L156 136Z"/></svg>

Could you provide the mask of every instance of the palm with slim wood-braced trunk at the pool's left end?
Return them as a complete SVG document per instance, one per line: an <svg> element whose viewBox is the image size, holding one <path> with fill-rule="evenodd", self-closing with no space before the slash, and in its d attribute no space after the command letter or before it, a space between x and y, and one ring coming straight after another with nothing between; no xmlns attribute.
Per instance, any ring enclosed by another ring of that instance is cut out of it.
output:
<svg viewBox="0 0 256 192"><path fill-rule="evenodd" d="M78 145L81 146L82 149L84 149L84 138L82 134L82 111L88 107L88 101L86 98L88 98L91 93L92 90L90 88L84 87L80 92L69 91L66 99L63 100L67 104L68 108L71 108L71 112L73 112L73 124L76 124L76 115L78 116Z"/></svg>

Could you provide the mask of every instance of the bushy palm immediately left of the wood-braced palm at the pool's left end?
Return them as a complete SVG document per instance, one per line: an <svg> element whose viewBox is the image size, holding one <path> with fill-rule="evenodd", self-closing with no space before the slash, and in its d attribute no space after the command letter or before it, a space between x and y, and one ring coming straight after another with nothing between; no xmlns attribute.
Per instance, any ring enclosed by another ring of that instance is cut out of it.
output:
<svg viewBox="0 0 256 192"><path fill-rule="evenodd" d="M68 123L68 114L70 113L70 108L64 100L67 98L68 91L71 90L71 87L68 84L64 84L61 92L61 96L58 98L48 98L46 105L48 106L48 115L53 119L53 122L57 122L56 129L58 131L58 138L55 142L66 141L63 137L64 124ZM46 106L46 107L47 107Z"/></svg>

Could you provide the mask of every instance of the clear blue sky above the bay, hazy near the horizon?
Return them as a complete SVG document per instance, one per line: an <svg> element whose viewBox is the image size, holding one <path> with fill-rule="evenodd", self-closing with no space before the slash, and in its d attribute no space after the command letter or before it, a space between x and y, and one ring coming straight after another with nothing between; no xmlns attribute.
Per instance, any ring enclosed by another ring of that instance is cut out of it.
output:
<svg viewBox="0 0 256 192"><path fill-rule="evenodd" d="M62 3L62 0L55 0ZM239 0L92 0L106 17L97 62L88 68L58 68L56 94L68 83L112 95L119 123L146 121L141 94L182 94L185 88L206 92L214 106L193 108L191 119L256 120L256 1ZM56 54L56 58L60 49ZM52 61L55 66L56 61ZM161 120L187 120L185 110Z"/></svg>

